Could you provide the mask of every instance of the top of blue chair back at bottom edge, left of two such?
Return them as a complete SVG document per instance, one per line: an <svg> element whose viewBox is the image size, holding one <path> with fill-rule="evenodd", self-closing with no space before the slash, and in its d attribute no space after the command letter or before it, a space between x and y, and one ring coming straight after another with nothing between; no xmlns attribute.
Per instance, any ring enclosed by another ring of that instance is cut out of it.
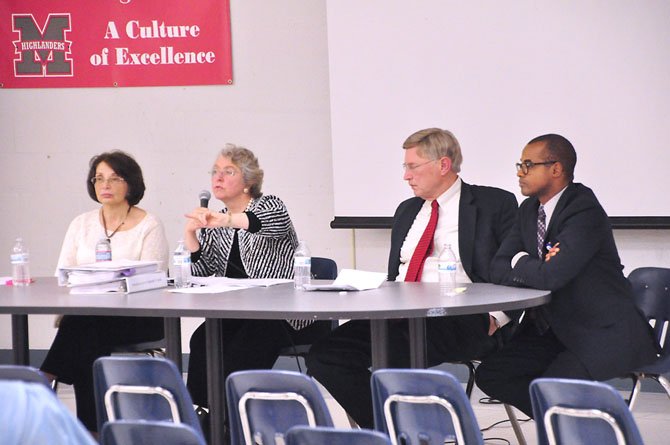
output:
<svg viewBox="0 0 670 445"><path fill-rule="evenodd" d="M101 445L206 445L205 439L185 423L119 420L108 422L100 433Z"/></svg>

